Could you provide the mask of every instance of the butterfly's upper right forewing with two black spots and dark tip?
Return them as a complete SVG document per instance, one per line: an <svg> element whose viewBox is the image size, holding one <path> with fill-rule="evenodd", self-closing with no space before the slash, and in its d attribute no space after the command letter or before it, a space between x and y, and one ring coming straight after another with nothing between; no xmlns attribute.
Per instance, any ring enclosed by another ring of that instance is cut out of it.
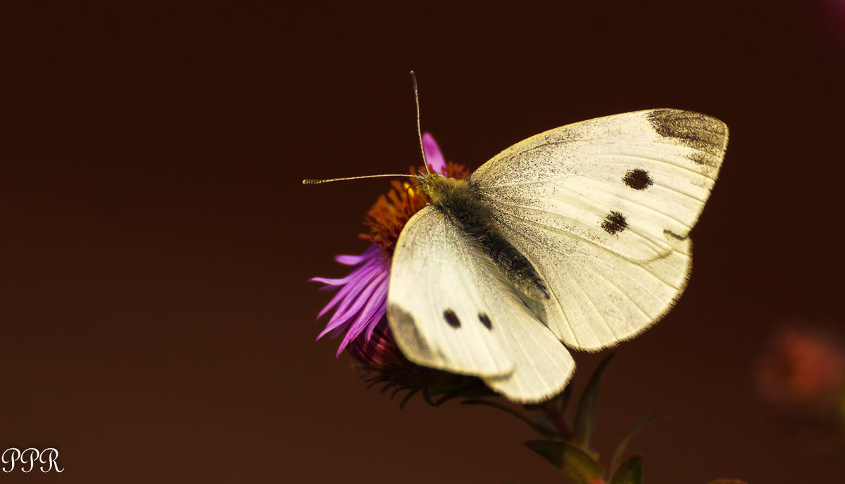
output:
<svg viewBox="0 0 845 484"><path fill-rule="evenodd" d="M695 129L701 139L691 138ZM695 225L727 141L727 128L711 117L631 112L537 134L471 179L503 214L648 259L669 249L664 232L686 237Z"/></svg>

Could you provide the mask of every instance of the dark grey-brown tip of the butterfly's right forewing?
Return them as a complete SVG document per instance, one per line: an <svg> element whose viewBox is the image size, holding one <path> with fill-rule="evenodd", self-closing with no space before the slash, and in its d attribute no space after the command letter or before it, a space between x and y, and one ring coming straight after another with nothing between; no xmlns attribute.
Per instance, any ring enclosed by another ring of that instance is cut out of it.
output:
<svg viewBox="0 0 845 484"><path fill-rule="evenodd" d="M651 128L663 138L677 140L692 149L722 158L728 141L728 129L715 117L693 111L657 109L648 114ZM700 165L712 163L708 157L697 155L690 160Z"/></svg>

